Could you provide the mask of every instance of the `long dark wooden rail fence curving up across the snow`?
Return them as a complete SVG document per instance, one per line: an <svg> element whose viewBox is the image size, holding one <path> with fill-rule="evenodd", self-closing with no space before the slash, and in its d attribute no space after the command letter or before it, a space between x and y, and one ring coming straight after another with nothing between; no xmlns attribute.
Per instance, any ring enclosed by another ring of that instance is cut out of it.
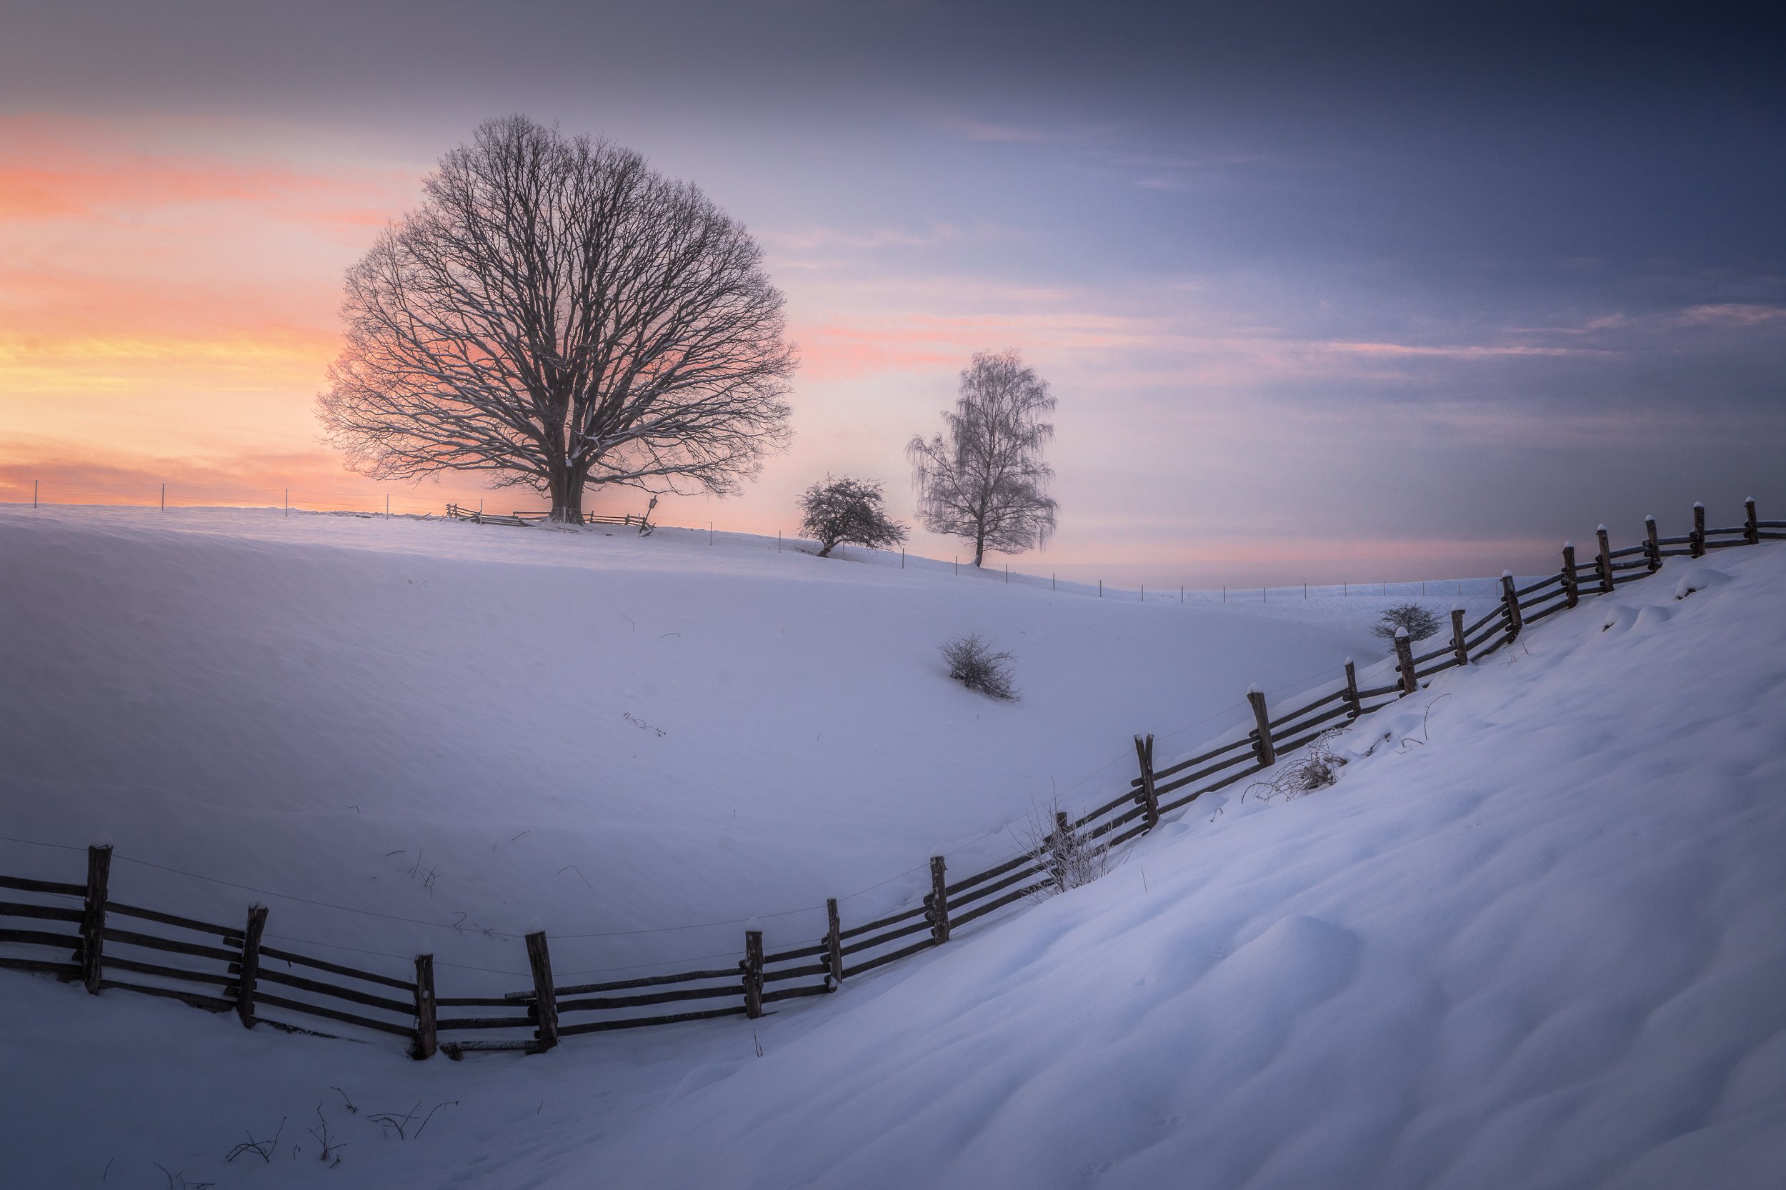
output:
<svg viewBox="0 0 1786 1190"><path fill-rule="evenodd" d="M1786 540L1786 522L1757 520L1750 500L1741 525L1707 529L1706 509L1693 506L1693 529L1682 536L1657 536L1656 522L1647 520L1638 545L1615 550L1604 525L1595 540L1591 559L1577 561L1575 547L1565 545L1561 570L1523 588L1515 586L1511 572L1504 574L1500 604L1468 625L1461 609L1452 611L1450 636L1436 649L1416 654L1406 634L1397 636L1393 683L1361 690L1347 661L1338 690L1275 715L1254 688L1247 695L1254 715L1248 734L1163 768L1154 767L1154 738L1136 736L1139 774L1129 788L1077 818L1057 815L1054 833L1036 851L956 881L948 879L945 858L934 856L931 892L922 904L845 927L838 902L829 901L825 936L811 945L764 954L763 931L750 922L743 958L734 967L559 986L547 934L539 931L525 936L532 986L505 995L445 997L436 992L432 954L418 954L413 968L400 974L380 974L263 945L268 917L263 906L250 906L239 926L218 926L111 901L109 847L88 851L82 884L0 876L0 890L30 897L0 901L0 924L7 926L0 929L0 943L64 956L0 956L0 967L80 981L91 993L116 988L173 997L236 1013L250 1027L316 1033L316 1026L327 1024L395 1035L409 1040L416 1058L436 1051L454 1058L480 1049L539 1052L582 1033L761 1017L770 1004L825 995L845 979L943 945L956 929L1047 888L1064 849L1091 840L1107 847L1125 843L1204 793L1270 768L1338 722L1350 724L1415 693L1432 674L1495 652L1584 595L1648 577L1665 557L1702 557L1732 545ZM32 927L14 929L7 918L23 918ZM52 924L63 929L45 927Z"/></svg>

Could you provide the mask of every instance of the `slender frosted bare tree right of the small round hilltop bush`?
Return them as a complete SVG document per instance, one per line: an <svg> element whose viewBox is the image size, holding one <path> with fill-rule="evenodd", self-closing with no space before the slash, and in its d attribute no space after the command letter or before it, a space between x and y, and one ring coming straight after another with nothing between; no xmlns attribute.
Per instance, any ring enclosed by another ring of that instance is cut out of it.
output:
<svg viewBox="0 0 1786 1190"><path fill-rule="evenodd" d="M1016 350L977 352L961 370L961 397L943 411L945 432L922 434L906 447L918 518L931 532L973 543L973 565L986 550L1020 554L1054 534L1054 468L1041 448L1054 438L1048 382L1023 366Z"/></svg>

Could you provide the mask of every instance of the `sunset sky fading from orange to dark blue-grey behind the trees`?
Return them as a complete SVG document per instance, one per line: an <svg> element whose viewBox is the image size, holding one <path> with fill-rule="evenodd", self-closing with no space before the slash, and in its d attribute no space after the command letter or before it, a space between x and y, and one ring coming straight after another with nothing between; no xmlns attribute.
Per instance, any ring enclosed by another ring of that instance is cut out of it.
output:
<svg viewBox="0 0 1786 1190"><path fill-rule="evenodd" d="M0 0L0 499L479 499L345 472L314 397L343 272L518 111L700 184L788 295L793 445L670 522L793 531L825 473L911 520L904 443L1007 347L1059 402L1059 532L993 556L1020 570L1498 574L1600 520L1786 509L1759 7Z"/></svg>

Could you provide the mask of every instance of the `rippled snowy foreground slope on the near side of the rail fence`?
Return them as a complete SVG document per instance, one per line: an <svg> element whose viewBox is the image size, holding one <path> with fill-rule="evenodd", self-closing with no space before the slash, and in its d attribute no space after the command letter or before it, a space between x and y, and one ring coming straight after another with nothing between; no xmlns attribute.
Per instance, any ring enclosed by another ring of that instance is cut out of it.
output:
<svg viewBox="0 0 1786 1190"><path fill-rule="evenodd" d="M25 1186L1772 1186L1782 606L1786 550L1672 559L1361 720L1336 786L1211 795L750 1026L405 1063L7 977L4 1147Z"/></svg>

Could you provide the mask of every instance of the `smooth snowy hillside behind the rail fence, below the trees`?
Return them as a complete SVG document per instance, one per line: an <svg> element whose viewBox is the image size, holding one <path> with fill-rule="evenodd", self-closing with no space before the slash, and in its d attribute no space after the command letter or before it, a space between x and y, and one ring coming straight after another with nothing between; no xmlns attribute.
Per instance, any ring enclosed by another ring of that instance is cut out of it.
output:
<svg viewBox="0 0 1786 1190"><path fill-rule="evenodd" d="M268 929L473 967L518 943L414 922L609 934L559 942L564 972L736 951L750 915L807 942L825 897L866 920L938 849L1004 858L1054 790L1104 800L1134 733L1191 747L1248 683L1381 654L1382 599L1129 600L686 531L0 509L0 834L414 918L286 899ZM938 647L975 629L1022 702L948 681Z"/></svg>

